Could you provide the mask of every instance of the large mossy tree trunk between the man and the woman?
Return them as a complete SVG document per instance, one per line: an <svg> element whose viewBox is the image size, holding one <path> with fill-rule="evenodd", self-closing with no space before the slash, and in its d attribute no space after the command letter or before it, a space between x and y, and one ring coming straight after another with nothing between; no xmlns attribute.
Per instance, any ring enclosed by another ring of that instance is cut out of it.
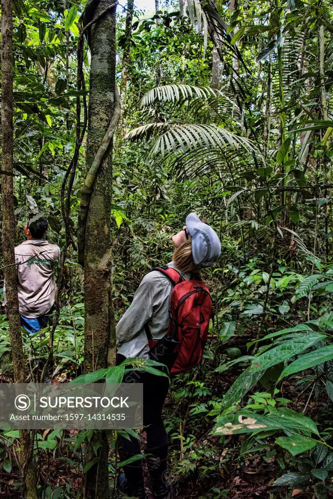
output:
<svg viewBox="0 0 333 499"><path fill-rule="evenodd" d="M113 2L100 0L95 17ZM115 108L116 7L91 27L91 67L86 165L89 171L108 129ZM115 363L111 266L112 140L99 166L87 213L84 242L85 338L84 371L92 372ZM109 444L101 434L100 460L86 474L85 497L109 498ZM86 461L94 457L86 447Z"/></svg>

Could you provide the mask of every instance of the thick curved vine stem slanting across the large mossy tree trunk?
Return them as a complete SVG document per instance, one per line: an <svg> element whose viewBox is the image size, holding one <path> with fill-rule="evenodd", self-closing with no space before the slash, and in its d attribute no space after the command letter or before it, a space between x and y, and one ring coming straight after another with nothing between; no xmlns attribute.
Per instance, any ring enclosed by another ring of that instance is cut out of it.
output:
<svg viewBox="0 0 333 499"><path fill-rule="evenodd" d="M78 244L78 261L84 266L84 240L85 240L85 232L86 232L86 221L89 210L89 203L91 194L93 192L94 183L101 167L103 158L105 153L107 152L111 139L117 129L118 122L121 115L121 107L120 107L120 97L119 90L117 84L115 85L115 108L113 112L113 116L110 120L109 127L104 135L101 145L96 153L96 156L92 162L92 165L89 169L89 172L86 176L82 191L81 191L81 202L79 207L78 214L78 229L77 229L77 244Z"/></svg>

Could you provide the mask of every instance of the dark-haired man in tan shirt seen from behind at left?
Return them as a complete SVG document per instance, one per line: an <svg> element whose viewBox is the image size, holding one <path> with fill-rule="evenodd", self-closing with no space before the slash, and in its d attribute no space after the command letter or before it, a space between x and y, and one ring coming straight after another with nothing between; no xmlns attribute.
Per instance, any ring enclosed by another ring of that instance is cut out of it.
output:
<svg viewBox="0 0 333 499"><path fill-rule="evenodd" d="M30 214L24 226L26 241L15 248L21 325L31 334L49 322L56 293L53 266L59 261L60 249L43 239L47 227L44 216ZM5 287L3 298L5 306Z"/></svg>

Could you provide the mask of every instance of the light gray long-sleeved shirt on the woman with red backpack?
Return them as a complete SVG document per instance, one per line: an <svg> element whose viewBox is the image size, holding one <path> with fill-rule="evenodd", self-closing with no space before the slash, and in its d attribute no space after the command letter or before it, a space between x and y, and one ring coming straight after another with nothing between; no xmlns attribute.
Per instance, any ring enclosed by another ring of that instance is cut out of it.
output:
<svg viewBox="0 0 333 499"><path fill-rule="evenodd" d="M173 261L167 264L175 268ZM184 279L190 273L182 274ZM116 326L118 353L125 357L149 358L149 345L145 324L154 339L161 339L169 324L169 307L172 284L157 270L142 279L133 301Z"/></svg>

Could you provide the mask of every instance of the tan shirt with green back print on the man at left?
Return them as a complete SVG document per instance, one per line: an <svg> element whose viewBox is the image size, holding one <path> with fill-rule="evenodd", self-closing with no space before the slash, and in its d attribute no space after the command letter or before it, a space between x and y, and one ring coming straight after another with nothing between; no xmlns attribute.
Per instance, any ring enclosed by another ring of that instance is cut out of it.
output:
<svg viewBox="0 0 333 499"><path fill-rule="evenodd" d="M47 241L28 240L15 248L19 313L40 317L53 306L56 284L53 267L60 258L60 248ZM3 303L6 304L3 286Z"/></svg>

